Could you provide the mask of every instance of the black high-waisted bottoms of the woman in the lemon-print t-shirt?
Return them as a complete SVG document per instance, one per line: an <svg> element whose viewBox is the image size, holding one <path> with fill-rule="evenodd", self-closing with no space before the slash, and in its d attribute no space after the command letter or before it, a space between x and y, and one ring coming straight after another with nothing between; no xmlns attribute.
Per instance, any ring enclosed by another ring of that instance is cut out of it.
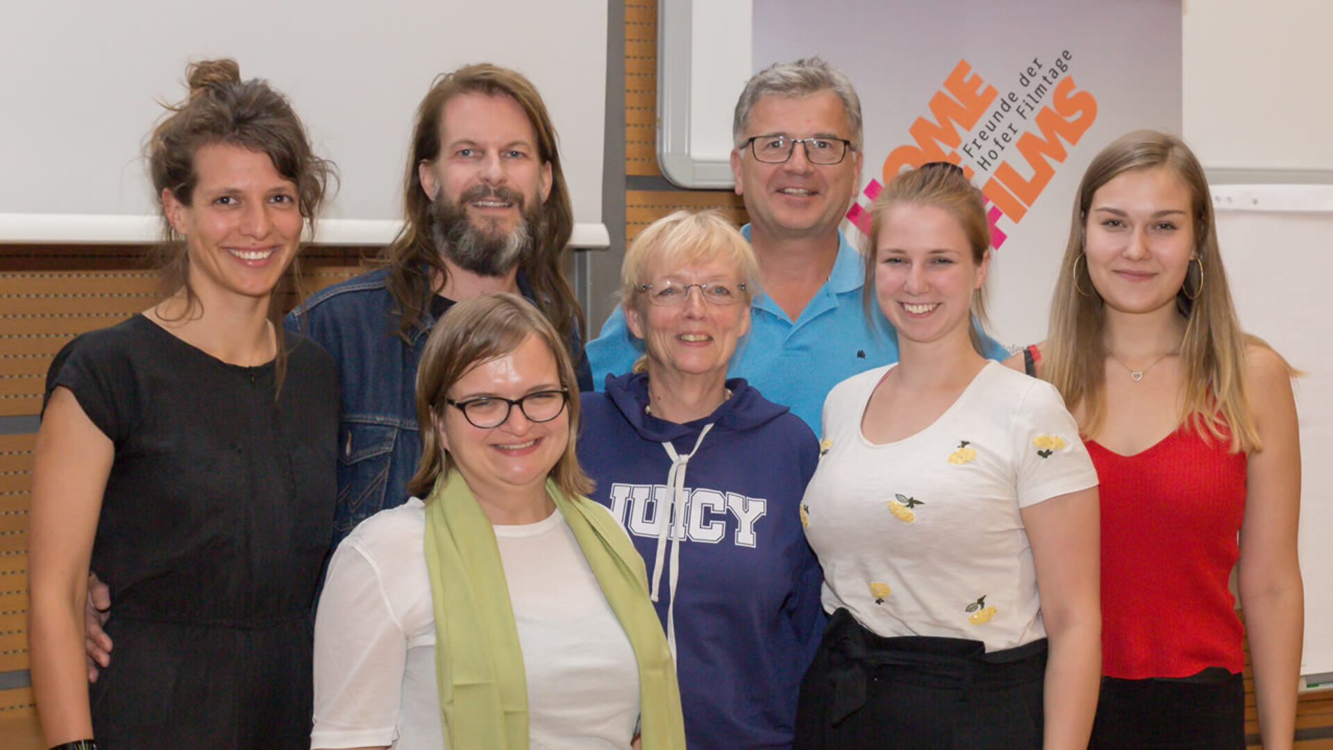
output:
<svg viewBox="0 0 1333 750"><path fill-rule="evenodd" d="M796 750L1040 750L1046 641L986 653L884 638L833 613L801 682Z"/></svg>

